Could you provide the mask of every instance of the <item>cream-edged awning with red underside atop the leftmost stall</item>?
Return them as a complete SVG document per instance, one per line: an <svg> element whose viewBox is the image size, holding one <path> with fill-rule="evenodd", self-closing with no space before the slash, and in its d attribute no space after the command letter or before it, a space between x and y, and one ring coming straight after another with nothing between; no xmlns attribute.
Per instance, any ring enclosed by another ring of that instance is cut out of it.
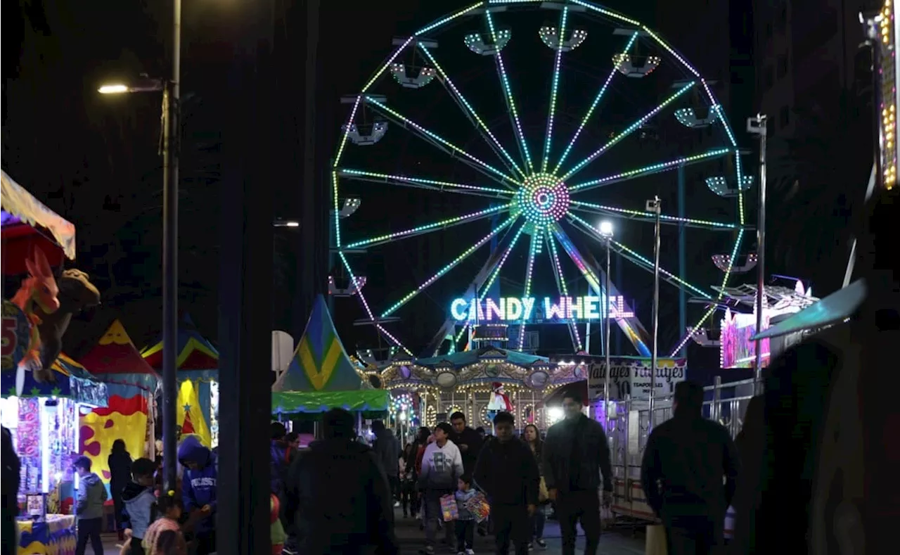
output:
<svg viewBox="0 0 900 555"><path fill-rule="evenodd" d="M43 230L52 241L41 232ZM61 264L63 255L75 259L75 225L41 204L2 169L0 239L5 241L4 272L9 275L26 271L25 256L34 246L44 251L52 266Z"/></svg>

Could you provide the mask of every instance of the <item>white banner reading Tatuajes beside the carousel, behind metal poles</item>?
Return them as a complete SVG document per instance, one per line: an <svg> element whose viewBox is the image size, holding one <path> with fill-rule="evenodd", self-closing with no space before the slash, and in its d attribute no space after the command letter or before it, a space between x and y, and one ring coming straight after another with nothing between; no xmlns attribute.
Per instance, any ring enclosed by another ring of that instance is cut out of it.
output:
<svg viewBox="0 0 900 555"><path fill-rule="evenodd" d="M586 368L588 394L591 399L603 396L603 382L606 379L606 359L604 357L577 357ZM614 401L624 401L627 396L640 400L650 397L651 361L643 357L610 357L609 397ZM657 359L656 391L653 396L667 396L675 392L675 384L685 380L686 359Z"/></svg>

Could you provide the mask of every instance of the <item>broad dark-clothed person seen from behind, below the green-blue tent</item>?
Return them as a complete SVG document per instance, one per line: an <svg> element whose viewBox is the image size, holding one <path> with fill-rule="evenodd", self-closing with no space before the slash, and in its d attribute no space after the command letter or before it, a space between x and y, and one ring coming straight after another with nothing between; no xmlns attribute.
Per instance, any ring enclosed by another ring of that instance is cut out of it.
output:
<svg viewBox="0 0 900 555"><path fill-rule="evenodd" d="M374 451L356 441L353 416L325 413L324 440L291 464L282 497L284 554L397 553L391 493Z"/></svg>

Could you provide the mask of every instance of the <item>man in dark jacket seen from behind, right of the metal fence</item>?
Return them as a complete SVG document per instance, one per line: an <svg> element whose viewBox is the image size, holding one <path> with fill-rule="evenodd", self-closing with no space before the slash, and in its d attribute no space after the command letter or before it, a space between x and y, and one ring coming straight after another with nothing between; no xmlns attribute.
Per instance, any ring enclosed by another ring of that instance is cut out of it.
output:
<svg viewBox="0 0 900 555"><path fill-rule="evenodd" d="M703 417L703 388L675 387L672 418L650 433L641 482L666 528L669 555L710 553L723 544L725 511L740 467L725 426ZM725 480L723 480L725 478Z"/></svg>

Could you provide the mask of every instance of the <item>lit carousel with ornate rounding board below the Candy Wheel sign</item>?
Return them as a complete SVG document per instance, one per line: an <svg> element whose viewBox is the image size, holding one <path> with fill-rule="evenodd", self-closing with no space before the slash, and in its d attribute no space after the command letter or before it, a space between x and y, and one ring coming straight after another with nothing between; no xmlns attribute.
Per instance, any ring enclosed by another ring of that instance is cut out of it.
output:
<svg viewBox="0 0 900 555"><path fill-rule="evenodd" d="M440 357L413 359L398 351L381 371L383 387L411 405L423 425L434 426L459 411L473 427L489 428L493 415L509 411L517 428L545 429L542 399L557 387L584 379L545 357L482 347Z"/></svg>

